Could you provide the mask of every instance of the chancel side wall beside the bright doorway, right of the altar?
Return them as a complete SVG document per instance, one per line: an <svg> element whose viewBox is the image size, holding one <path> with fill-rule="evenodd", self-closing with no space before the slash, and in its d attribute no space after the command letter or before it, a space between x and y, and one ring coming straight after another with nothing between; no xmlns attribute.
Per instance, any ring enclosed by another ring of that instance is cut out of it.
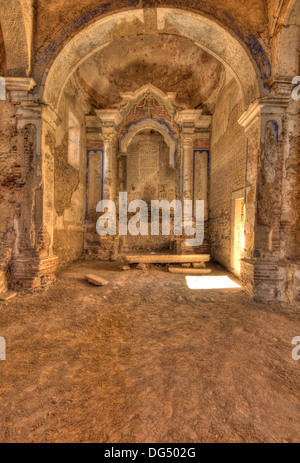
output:
<svg viewBox="0 0 300 463"><path fill-rule="evenodd" d="M232 195L245 185L246 138L238 120L243 102L232 80L217 103L212 121L209 170L209 223L211 255L231 266Z"/></svg>

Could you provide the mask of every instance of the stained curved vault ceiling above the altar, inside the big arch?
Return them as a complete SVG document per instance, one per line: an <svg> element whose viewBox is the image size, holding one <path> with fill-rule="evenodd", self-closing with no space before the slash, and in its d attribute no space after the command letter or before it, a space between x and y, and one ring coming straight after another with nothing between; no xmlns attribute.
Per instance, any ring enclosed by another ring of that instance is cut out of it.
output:
<svg viewBox="0 0 300 463"><path fill-rule="evenodd" d="M123 37L81 65L77 76L99 108L118 105L120 93L152 84L176 92L177 103L203 108L222 85L223 65L192 41L170 35Z"/></svg>

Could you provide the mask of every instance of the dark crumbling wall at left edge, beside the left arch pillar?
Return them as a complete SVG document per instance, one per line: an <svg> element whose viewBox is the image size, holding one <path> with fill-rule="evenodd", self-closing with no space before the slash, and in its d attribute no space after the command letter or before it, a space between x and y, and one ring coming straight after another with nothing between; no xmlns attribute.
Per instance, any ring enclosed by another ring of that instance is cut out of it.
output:
<svg viewBox="0 0 300 463"><path fill-rule="evenodd" d="M33 132L18 130L16 107L0 101L0 293L10 286L10 266L32 236Z"/></svg>

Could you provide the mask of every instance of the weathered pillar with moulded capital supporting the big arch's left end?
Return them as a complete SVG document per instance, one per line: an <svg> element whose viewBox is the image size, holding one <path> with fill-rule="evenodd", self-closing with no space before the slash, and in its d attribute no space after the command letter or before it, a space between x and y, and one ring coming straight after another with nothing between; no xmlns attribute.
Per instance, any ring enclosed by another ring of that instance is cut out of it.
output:
<svg viewBox="0 0 300 463"><path fill-rule="evenodd" d="M33 101L30 91L34 85L32 79L6 79L10 101L17 108L17 129L23 139L20 175L24 176L25 182L20 212L14 223L16 241L11 264L13 289L49 285L55 281L58 262L52 250L53 159L46 155L42 146L43 126L51 110Z"/></svg>

